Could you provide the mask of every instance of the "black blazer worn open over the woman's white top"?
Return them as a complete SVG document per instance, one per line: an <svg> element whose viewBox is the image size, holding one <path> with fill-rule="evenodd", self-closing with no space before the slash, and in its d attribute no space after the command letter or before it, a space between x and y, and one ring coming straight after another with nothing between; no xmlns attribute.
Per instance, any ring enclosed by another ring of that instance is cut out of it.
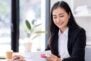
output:
<svg viewBox="0 0 91 61"><path fill-rule="evenodd" d="M58 52L58 33L47 46L46 50L51 50L52 54L59 56ZM56 41L55 41L56 40ZM85 45L86 33L83 28L71 29L68 31L68 52L69 58L64 58L63 61L85 61Z"/></svg>

